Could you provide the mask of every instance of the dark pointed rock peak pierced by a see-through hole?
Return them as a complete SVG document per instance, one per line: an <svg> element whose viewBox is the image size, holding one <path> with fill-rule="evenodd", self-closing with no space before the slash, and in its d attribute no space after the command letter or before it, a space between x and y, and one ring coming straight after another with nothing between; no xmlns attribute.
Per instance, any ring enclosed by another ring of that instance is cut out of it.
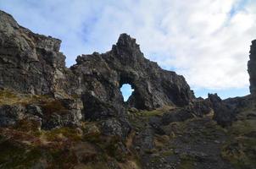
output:
<svg viewBox="0 0 256 169"><path fill-rule="evenodd" d="M100 101L109 102L117 110L124 105L120 93L124 84L134 89L127 104L138 109L185 106L194 98L182 76L147 60L136 40L126 34L120 35L110 52L83 55L76 62L71 69L85 82L81 89L93 92Z"/></svg>

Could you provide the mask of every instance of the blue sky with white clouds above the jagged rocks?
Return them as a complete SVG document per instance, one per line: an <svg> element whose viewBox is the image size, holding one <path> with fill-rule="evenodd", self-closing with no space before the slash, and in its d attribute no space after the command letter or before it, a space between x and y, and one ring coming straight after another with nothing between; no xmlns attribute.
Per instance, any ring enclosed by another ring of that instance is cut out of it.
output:
<svg viewBox="0 0 256 169"><path fill-rule="evenodd" d="M248 95L255 0L0 0L30 30L61 39L67 66L106 52L121 33L145 56L185 76L197 96Z"/></svg>

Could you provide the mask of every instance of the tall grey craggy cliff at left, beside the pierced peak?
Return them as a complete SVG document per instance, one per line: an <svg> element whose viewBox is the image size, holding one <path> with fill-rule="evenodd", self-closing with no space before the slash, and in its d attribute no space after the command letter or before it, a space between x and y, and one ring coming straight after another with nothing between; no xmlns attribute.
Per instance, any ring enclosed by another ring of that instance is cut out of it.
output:
<svg viewBox="0 0 256 169"><path fill-rule="evenodd" d="M64 93L69 82L60 40L37 35L0 11L0 86L37 95Z"/></svg>

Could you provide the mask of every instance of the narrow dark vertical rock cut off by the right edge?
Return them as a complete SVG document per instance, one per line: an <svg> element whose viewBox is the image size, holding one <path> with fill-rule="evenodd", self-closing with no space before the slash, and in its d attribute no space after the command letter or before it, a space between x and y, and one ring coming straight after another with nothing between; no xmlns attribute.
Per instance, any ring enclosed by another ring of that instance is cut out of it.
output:
<svg viewBox="0 0 256 169"><path fill-rule="evenodd" d="M256 94L256 40L252 41L250 60L248 61L248 74L250 75L250 91Z"/></svg>

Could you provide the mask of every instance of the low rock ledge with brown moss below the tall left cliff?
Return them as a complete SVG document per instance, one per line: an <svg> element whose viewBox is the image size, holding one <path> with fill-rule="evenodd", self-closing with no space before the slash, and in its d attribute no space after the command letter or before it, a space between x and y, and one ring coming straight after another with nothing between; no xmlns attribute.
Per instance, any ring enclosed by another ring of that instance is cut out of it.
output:
<svg viewBox="0 0 256 169"><path fill-rule="evenodd" d="M82 120L80 101L63 99L28 104L0 106L0 127L19 126L20 122L36 124L37 128L78 127Z"/></svg>

